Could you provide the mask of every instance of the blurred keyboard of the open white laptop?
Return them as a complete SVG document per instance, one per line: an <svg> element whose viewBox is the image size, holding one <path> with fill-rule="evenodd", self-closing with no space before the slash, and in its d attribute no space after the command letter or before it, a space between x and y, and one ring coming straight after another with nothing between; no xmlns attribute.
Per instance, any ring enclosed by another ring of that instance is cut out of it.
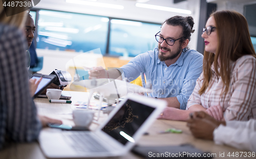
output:
<svg viewBox="0 0 256 159"><path fill-rule="evenodd" d="M91 134L75 131L70 133L63 133L63 135L73 141L73 147L82 152L107 152L103 146L101 146Z"/></svg>

